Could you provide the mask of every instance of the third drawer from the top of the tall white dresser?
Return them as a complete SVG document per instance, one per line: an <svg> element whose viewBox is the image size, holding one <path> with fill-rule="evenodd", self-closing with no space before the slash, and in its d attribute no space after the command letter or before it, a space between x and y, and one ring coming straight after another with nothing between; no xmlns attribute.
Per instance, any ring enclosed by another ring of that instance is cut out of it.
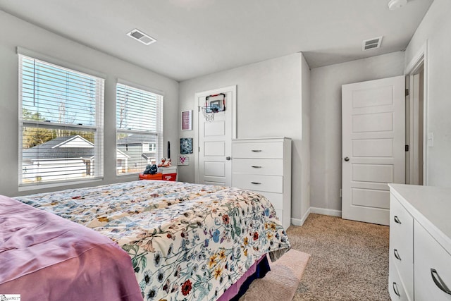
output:
<svg viewBox="0 0 451 301"><path fill-rule="evenodd" d="M233 187L265 192L283 192L282 176L261 176L247 173L233 173Z"/></svg>

